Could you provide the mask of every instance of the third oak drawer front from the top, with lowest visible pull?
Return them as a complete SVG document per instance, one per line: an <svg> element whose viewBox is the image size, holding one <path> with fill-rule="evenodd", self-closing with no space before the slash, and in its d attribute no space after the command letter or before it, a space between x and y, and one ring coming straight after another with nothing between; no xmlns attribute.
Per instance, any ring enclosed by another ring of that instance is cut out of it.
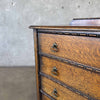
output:
<svg viewBox="0 0 100 100"><path fill-rule="evenodd" d="M42 90L57 100L87 100L45 77L42 77L41 79ZM55 91L57 91L57 93L55 93Z"/></svg>

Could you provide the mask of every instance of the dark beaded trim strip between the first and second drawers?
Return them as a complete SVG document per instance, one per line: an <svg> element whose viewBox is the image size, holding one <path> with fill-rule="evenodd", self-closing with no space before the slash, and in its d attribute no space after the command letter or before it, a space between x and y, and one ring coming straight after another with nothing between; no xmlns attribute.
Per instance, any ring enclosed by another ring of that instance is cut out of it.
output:
<svg viewBox="0 0 100 100"><path fill-rule="evenodd" d="M88 70L88 71L91 71L91 72L100 74L100 69L99 69L99 68L87 66L87 65L84 65L84 64L75 62L75 61L71 61L71 60L69 60L69 59L57 57L57 56L50 55L50 54L46 54L46 53L42 53L42 52L39 52L39 54L40 54L40 56L44 56L44 57L48 57L48 58L51 58L51 59L55 59L55 60L58 60L58 61L60 61L60 62L73 65L73 66L75 66L75 67L82 68L82 69L84 69L84 70Z"/></svg>

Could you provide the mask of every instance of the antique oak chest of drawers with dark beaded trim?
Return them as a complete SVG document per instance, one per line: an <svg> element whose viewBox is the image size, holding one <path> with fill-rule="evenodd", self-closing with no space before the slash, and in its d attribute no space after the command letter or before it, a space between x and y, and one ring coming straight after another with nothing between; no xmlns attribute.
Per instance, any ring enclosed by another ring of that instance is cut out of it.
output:
<svg viewBox="0 0 100 100"><path fill-rule="evenodd" d="M30 26L37 100L100 100L100 27Z"/></svg>

